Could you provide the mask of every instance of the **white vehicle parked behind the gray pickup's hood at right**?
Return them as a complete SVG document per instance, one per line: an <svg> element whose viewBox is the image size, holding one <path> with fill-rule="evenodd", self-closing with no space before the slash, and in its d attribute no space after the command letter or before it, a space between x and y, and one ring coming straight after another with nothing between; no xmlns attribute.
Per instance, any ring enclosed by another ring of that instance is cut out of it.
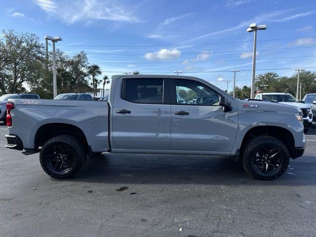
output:
<svg viewBox="0 0 316 237"><path fill-rule="evenodd" d="M304 132L307 132L313 121L311 106L298 102L293 95L288 93L259 93L256 95L257 100L275 101L281 104L293 105L300 108L303 112Z"/></svg>

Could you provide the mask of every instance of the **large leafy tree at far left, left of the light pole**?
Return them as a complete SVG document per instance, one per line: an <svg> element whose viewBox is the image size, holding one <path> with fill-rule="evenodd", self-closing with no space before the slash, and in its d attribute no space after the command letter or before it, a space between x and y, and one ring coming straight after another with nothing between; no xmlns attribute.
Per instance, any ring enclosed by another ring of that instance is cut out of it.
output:
<svg viewBox="0 0 316 237"><path fill-rule="evenodd" d="M1 93L26 91L25 85L41 77L44 65L44 46L31 33L2 31L0 39Z"/></svg>

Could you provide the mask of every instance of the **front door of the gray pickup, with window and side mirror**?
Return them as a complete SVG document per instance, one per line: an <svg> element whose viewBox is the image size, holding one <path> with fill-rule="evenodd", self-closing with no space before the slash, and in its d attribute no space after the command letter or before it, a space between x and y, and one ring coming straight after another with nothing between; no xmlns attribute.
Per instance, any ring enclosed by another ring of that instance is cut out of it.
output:
<svg viewBox="0 0 316 237"><path fill-rule="evenodd" d="M171 150L230 152L236 134L237 108L224 112L220 94L190 79L170 79Z"/></svg>

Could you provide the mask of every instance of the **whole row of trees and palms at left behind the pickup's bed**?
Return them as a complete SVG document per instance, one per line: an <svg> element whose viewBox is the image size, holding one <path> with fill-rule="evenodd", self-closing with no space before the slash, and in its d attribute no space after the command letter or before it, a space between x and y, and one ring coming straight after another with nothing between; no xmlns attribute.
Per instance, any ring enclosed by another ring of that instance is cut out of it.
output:
<svg viewBox="0 0 316 237"><path fill-rule="evenodd" d="M86 53L68 56L56 50L56 74L58 93L93 92L98 85L103 91L110 83L107 76L98 79L101 68L89 65ZM32 92L41 98L53 97L52 53L45 57L45 46L32 33L2 31L0 38L0 94Z"/></svg>

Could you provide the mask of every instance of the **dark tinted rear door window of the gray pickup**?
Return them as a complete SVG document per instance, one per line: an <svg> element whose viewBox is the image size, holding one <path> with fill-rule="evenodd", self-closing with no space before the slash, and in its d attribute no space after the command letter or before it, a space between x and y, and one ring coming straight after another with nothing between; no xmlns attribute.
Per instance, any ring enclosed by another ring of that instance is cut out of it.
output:
<svg viewBox="0 0 316 237"><path fill-rule="evenodd" d="M124 81L124 100L140 104L162 104L163 79L132 79Z"/></svg>

